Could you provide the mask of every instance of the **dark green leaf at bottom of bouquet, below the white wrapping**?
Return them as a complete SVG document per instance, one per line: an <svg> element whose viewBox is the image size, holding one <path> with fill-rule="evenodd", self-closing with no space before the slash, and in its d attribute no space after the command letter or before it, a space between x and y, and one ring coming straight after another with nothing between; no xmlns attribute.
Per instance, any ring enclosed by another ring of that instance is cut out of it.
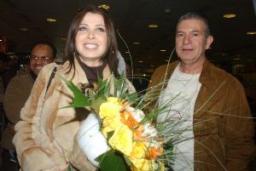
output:
<svg viewBox="0 0 256 171"><path fill-rule="evenodd" d="M113 149L96 157L102 171L130 171L121 153Z"/></svg>

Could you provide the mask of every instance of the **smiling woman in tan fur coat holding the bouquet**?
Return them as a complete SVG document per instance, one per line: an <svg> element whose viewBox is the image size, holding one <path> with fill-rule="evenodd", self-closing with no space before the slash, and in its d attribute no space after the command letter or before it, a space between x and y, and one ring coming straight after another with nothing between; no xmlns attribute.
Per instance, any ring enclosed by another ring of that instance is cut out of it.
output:
<svg viewBox="0 0 256 171"><path fill-rule="evenodd" d="M90 113L85 108L61 108L72 103L73 94L59 76L79 86L118 74L113 24L102 9L88 7L76 14L65 50L63 65L51 64L40 71L15 126L13 142L23 170L67 169L79 125Z"/></svg>

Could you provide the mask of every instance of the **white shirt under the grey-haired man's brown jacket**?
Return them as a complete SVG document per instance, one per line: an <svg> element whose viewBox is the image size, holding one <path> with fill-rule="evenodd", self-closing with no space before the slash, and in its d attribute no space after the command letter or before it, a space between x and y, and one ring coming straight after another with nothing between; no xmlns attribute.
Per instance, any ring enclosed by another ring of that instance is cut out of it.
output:
<svg viewBox="0 0 256 171"><path fill-rule="evenodd" d="M197 94L201 88L200 74L186 74L179 65L172 73L166 89L160 94L159 105L170 103L166 111L157 117L157 122L170 119L168 126L177 130L174 141L174 171L194 170L193 115Z"/></svg>

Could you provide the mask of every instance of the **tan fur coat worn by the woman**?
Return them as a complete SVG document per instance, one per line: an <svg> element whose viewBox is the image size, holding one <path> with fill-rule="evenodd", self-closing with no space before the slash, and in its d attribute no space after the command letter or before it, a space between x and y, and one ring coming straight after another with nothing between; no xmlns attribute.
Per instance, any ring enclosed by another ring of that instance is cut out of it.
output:
<svg viewBox="0 0 256 171"><path fill-rule="evenodd" d="M25 171L59 170L69 162L73 140L79 124L89 111L85 108L62 108L73 101L73 93L61 82L61 77L71 80L74 70L67 73L69 63L57 67L47 93L46 85L56 64L44 66L33 85L26 105L20 112L21 121L15 125L13 140L20 166ZM83 69L75 60L75 75L72 82L88 83ZM103 79L111 73L106 66ZM44 97L45 96L45 97Z"/></svg>

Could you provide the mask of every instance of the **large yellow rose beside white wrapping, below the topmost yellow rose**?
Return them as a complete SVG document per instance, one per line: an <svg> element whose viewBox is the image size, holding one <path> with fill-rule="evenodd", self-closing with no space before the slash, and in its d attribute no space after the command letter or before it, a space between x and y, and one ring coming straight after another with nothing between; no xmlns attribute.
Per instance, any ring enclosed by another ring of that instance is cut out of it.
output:
<svg viewBox="0 0 256 171"><path fill-rule="evenodd" d="M122 124L113 133L108 143L115 150L121 151L129 156L132 150L132 131L126 125Z"/></svg>

